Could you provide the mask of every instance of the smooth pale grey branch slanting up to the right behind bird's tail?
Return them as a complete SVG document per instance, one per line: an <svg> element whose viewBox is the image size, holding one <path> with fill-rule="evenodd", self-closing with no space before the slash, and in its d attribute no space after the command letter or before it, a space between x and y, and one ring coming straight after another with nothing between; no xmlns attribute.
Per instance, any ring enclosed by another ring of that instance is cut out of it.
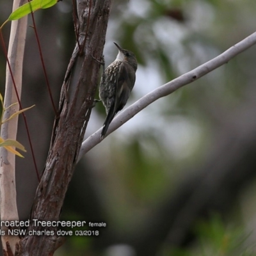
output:
<svg viewBox="0 0 256 256"><path fill-rule="evenodd" d="M148 105L152 104L152 102L160 99L161 97L170 95L171 93L175 92L182 86L192 83L196 79L199 79L202 76L205 76L212 70L221 67L222 65L226 64L232 58L237 56L239 53L246 51L246 49L252 47L256 44L256 32L252 35L244 38L241 42L237 43L230 47L227 51L223 52L216 58L207 61L203 65L189 71L182 76L173 79L172 81L163 84L156 90L148 93L141 99L137 100L134 104L132 104L129 108L122 111L116 118L113 120L111 125L109 125L109 129L107 132L110 134L111 132L118 129L121 125L125 124L128 120L130 120L134 115L138 114L142 109L146 108ZM101 129L94 132L91 136L89 136L86 140L83 141L81 150L79 152L79 156L77 161L81 159L84 154L90 151L93 147L100 143L100 132Z"/></svg>

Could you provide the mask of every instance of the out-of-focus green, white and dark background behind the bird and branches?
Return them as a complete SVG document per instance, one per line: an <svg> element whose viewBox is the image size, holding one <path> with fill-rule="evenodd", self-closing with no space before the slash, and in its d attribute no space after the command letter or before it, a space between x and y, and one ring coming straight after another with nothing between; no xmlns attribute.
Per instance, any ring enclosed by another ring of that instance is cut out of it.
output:
<svg viewBox="0 0 256 256"><path fill-rule="evenodd" d="M0 2L1 24L11 10L10 1ZM58 106L75 45L71 1L40 10L35 19ZM129 106L218 56L253 33L255 24L253 0L114 1L106 65L117 54L113 42L136 54L139 67ZM9 29L10 24L3 29L6 45ZM104 221L107 227L98 228L100 236L67 237L56 255L256 255L255 60L252 47L157 100L88 152L76 168L61 220ZM5 65L1 49L2 94ZM36 104L26 116L42 172L54 111L32 28L23 74L22 106ZM97 104L86 137L101 127L105 115ZM37 179L22 118L18 141L28 150L17 159L17 202L20 220L27 220Z"/></svg>

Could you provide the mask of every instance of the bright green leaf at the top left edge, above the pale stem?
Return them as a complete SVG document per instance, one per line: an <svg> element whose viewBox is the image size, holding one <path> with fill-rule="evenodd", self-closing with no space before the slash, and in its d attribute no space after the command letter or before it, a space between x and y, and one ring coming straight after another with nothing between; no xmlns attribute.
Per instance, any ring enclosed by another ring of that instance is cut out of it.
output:
<svg viewBox="0 0 256 256"><path fill-rule="evenodd" d="M8 20L17 20L38 9L46 9L57 3L57 0L32 0L23 4L11 13Z"/></svg>

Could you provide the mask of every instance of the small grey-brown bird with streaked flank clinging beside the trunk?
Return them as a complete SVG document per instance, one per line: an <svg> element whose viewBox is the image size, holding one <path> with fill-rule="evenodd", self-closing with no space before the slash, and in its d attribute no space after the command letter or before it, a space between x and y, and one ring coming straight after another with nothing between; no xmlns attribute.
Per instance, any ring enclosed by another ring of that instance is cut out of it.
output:
<svg viewBox="0 0 256 256"><path fill-rule="evenodd" d="M100 80L99 97L106 108L107 117L103 124L100 139L102 140L108 131L109 124L118 111L127 103L134 86L138 67L133 52L122 49L118 44L118 54L103 72Z"/></svg>

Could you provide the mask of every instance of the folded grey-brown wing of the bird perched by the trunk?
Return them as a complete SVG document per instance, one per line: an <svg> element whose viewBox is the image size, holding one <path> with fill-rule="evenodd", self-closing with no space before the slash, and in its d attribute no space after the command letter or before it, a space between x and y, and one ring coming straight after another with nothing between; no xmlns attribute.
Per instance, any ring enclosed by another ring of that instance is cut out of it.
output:
<svg viewBox="0 0 256 256"><path fill-rule="evenodd" d="M130 70L131 69L131 70ZM122 110L127 103L131 90L135 83L135 72L127 63L120 65L116 80L115 114Z"/></svg>

